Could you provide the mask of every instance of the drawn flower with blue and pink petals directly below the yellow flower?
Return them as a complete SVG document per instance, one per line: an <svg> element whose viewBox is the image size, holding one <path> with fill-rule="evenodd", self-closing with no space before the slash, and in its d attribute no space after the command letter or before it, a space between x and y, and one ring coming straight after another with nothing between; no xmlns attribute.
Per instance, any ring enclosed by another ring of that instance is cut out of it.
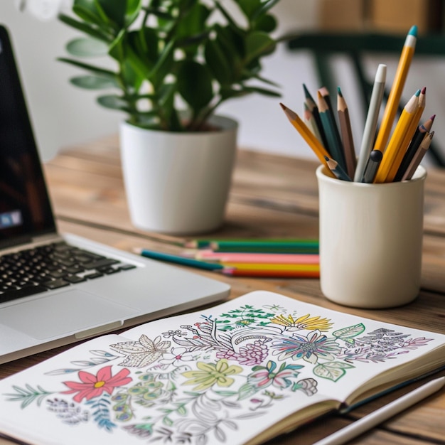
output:
<svg viewBox="0 0 445 445"><path fill-rule="evenodd" d="M307 337L297 336L274 342L272 345L278 360L303 358L309 363L317 363L318 358L334 360L335 355L341 353L341 347L335 338L327 338L318 329L312 331Z"/></svg>

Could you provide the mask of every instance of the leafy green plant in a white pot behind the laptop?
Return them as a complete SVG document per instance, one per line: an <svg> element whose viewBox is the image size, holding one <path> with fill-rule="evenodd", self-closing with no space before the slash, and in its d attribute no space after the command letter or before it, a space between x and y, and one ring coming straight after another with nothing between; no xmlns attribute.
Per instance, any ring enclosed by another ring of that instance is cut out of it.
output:
<svg viewBox="0 0 445 445"><path fill-rule="evenodd" d="M126 114L121 156L136 227L191 233L222 223L237 123L215 110L251 93L279 96L260 76L277 44L277 1L74 0L74 16L60 14L86 34L67 45L75 58L59 59L87 71L70 81L117 90L97 101ZM80 60L103 55L114 69Z"/></svg>

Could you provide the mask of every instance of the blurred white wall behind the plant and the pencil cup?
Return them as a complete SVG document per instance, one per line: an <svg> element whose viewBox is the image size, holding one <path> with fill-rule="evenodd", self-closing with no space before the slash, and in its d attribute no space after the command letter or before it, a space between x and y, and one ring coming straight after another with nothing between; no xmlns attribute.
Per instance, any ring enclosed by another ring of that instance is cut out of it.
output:
<svg viewBox="0 0 445 445"><path fill-rule="evenodd" d="M122 115L97 105L97 93L71 86L68 79L77 71L55 60L58 56L66 55L64 45L75 36L75 31L57 19L38 21L30 14L19 12L14 4L19 1L23 0L0 1L0 23L4 23L12 34L43 159L50 159L63 146L116 133ZM40 6L50 4L51 1L70 3L70 0L29 1ZM274 14L279 18L280 35L289 31L313 29L317 24L317 1L281 0L274 7ZM378 63L387 63L388 82L392 80L397 58L390 60L387 56L373 57L367 62L370 78L373 77ZM315 159L311 149L291 127L279 107L281 101L300 113L304 101L301 84L306 83L314 93L321 86L316 80L310 53L289 53L283 43L274 55L265 60L262 74L282 85L281 100L252 95L227 102L219 109L221 114L228 114L240 121L240 146ZM425 63L425 60L414 57L404 90L407 100L419 87L427 86L427 109L424 117L437 114L434 125L436 142L441 139L440 119L445 115L444 92L441 88L444 75L445 61L428 60ZM356 87L350 75L350 66L342 58L338 58L336 77L352 110L351 120L358 149L364 117L360 103L354 100Z"/></svg>

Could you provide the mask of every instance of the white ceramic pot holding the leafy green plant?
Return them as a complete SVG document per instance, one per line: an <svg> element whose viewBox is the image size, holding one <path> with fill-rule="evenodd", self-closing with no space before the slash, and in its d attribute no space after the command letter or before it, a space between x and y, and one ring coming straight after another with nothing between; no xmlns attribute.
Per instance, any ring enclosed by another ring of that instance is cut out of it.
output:
<svg viewBox="0 0 445 445"><path fill-rule="evenodd" d="M122 122L122 172L135 227L172 234L223 224L237 147L237 122L216 116L215 132L161 132Z"/></svg>

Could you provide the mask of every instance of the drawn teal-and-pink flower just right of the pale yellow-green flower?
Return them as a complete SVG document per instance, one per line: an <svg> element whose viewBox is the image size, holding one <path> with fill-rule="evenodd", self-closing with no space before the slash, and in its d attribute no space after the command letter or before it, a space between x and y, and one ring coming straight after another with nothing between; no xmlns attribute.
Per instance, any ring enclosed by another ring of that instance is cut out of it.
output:
<svg viewBox="0 0 445 445"><path fill-rule="evenodd" d="M254 366L252 374L247 377L250 383L253 383L259 389L266 388L270 385L278 388L286 388L292 385L291 377L299 375L299 370L303 368L301 365L286 365L282 363L279 370L276 370L277 363L272 360L267 362L266 366Z"/></svg>

